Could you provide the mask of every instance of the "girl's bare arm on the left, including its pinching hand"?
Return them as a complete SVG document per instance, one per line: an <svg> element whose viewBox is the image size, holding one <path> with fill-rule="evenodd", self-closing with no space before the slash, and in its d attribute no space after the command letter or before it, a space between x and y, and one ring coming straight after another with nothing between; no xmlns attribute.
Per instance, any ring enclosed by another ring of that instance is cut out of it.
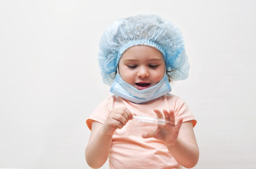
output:
<svg viewBox="0 0 256 169"><path fill-rule="evenodd" d="M100 168L109 156L112 136L116 129L121 129L128 120L133 119L127 108L116 108L109 113L105 123L92 123L92 131L85 150L87 164L91 168Z"/></svg>

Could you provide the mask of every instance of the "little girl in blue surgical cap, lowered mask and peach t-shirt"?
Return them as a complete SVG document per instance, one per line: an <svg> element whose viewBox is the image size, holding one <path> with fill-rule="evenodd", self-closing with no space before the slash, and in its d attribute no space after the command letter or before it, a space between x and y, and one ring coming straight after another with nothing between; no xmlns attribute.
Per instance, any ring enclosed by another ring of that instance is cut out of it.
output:
<svg viewBox="0 0 256 169"><path fill-rule="evenodd" d="M115 95L87 119L85 157L92 168L193 168L199 149L196 120L184 101L169 94L172 80L188 77L180 30L157 15L136 15L111 24L99 43L104 83ZM156 116L164 124L138 122Z"/></svg>

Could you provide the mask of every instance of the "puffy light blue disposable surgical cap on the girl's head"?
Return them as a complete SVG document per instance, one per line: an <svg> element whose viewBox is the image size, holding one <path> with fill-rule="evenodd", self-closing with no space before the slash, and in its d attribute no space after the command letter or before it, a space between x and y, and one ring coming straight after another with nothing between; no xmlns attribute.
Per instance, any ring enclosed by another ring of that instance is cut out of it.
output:
<svg viewBox="0 0 256 169"><path fill-rule="evenodd" d="M100 39L98 61L104 83L113 83L123 52L135 45L152 46L161 51L171 80L188 77L190 65L178 27L158 15L135 15L116 20Z"/></svg>

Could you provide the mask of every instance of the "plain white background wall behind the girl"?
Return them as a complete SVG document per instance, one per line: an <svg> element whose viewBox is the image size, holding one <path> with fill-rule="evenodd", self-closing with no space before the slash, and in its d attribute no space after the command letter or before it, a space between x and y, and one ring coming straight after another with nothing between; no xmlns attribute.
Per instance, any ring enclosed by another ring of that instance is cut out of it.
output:
<svg viewBox="0 0 256 169"><path fill-rule="evenodd" d="M1 0L0 168L89 168L85 120L109 96L99 38L114 20L147 13L183 32L190 75L172 87L198 121L195 168L255 168L253 0Z"/></svg>

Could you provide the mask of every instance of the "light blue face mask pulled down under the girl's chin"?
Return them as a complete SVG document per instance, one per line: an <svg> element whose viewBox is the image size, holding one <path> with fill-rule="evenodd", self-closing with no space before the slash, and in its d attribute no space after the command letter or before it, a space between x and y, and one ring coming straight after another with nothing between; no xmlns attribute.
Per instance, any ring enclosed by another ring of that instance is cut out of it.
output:
<svg viewBox="0 0 256 169"><path fill-rule="evenodd" d="M164 75L156 85L147 89L139 90L123 81L121 76L116 74L116 78L111 86L110 92L117 96L121 96L123 99L132 101L135 104L143 104L171 92L171 86L167 75Z"/></svg>

